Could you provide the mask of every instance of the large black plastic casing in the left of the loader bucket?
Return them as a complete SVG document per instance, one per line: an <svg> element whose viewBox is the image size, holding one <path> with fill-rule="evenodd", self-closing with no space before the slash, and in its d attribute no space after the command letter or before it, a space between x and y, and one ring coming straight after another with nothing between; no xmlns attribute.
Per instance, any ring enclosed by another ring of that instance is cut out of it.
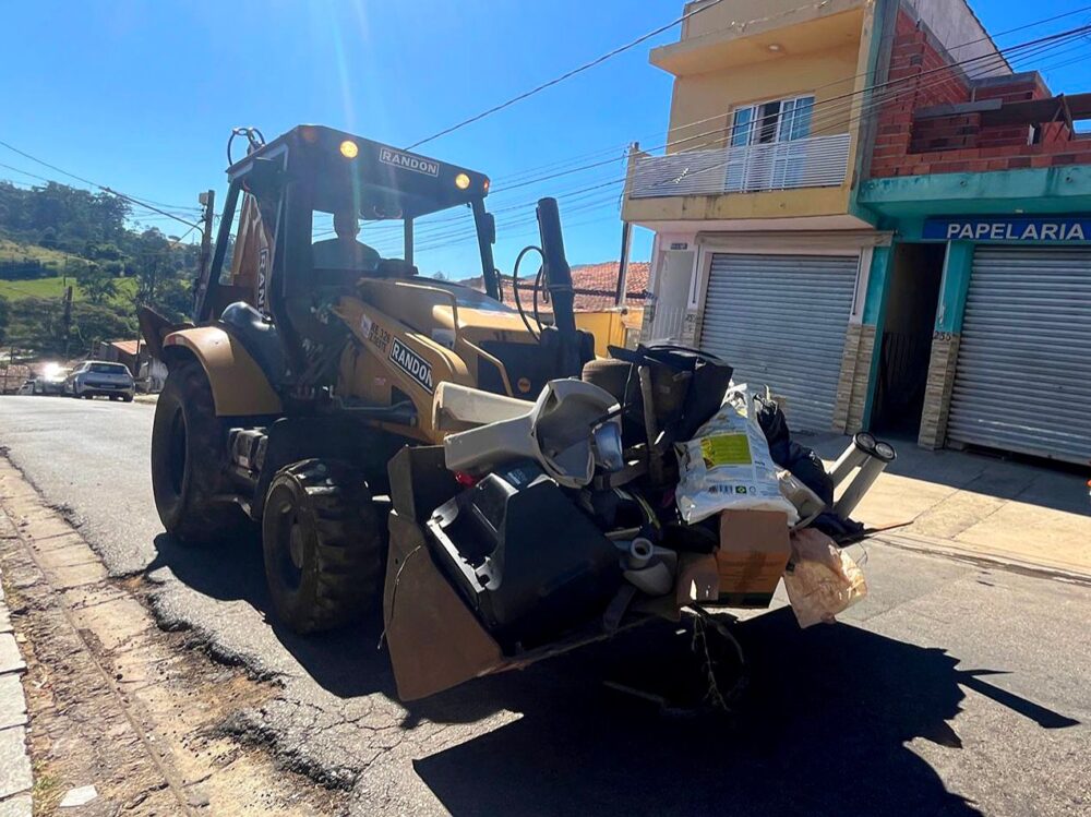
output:
<svg viewBox="0 0 1091 817"><path fill-rule="evenodd" d="M507 650L601 615L618 549L533 462L490 473L428 521L437 561Z"/></svg>

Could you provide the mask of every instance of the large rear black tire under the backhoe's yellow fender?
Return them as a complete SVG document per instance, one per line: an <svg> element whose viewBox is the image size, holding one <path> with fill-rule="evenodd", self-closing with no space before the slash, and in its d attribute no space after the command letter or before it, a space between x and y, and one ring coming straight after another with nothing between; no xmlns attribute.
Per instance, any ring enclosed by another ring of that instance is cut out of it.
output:
<svg viewBox="0 0 1091 817"><path fill-rule="evenodd" d="M227 477L227 428L201 364L170 368L152 422L152 493L163 527L185 544L235 538L250 527Z"/></svg>

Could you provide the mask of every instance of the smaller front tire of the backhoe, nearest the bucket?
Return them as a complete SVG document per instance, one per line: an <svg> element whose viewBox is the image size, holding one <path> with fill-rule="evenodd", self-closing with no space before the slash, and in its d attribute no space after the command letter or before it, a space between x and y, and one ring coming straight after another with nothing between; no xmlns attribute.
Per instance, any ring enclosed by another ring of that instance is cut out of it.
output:
<svg viewBox="0 0 1091 817"><path fill-rule="evenodd" d="M308 634L348 624L376 606L386 541L359 470L323 459L280 469L262 517L265 578L277 617Z"/></svg>

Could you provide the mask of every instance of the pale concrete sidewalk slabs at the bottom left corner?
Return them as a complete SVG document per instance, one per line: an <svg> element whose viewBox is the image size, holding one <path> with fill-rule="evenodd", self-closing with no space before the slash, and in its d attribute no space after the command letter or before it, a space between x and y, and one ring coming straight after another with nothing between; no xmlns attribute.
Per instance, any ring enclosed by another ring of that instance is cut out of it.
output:
<svg viewBox="0 0 1091 817"><path fill-rule="evenodd" d="M26 749L26 699L20 676L26 664L0 586L0 817L29 817L31 757Z"/></svg>

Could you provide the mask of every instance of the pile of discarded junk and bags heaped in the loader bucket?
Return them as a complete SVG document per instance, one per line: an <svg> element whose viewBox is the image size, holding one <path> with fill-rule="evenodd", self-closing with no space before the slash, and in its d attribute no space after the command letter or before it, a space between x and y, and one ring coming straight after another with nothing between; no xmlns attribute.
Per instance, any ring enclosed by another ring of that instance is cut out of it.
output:
<svg viewBox="0 0 1091 817"><path fill-rule="evenodd" d="M418 514L419 538L497 662L601 638L642 616L766 608L782 576L803 626L863 597L863 576L837 541L861 534L848 515L892 448L858 435L827 473L791 438L777 400L733 384L732 373L705 352L642 346L612 348L533 404L437 386L434 423L448 432L442 467L453 489L413 482L434 506ZM387 596L389 620L389 581Z"/></svg>

